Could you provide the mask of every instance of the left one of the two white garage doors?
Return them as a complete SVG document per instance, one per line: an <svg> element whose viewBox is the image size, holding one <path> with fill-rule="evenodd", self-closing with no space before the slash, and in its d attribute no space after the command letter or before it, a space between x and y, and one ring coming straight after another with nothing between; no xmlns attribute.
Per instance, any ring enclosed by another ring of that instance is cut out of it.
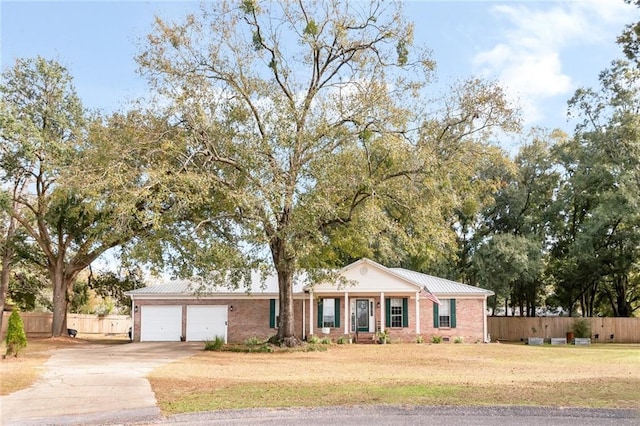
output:
<svg viewBox="0 0 640 426"><path fill-rule="evenodd" d="M141 306L141 342L179 342L182 306Z"/></svg>

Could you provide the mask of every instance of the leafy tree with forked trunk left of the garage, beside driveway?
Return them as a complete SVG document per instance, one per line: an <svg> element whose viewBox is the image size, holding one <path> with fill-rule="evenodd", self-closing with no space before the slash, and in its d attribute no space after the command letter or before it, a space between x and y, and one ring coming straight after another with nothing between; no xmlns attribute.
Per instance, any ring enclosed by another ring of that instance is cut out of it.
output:
<svg viewBox="0 0 640 426"><path fill-rule="evenodd" d="M127 164L131 135L118 127L118 117L89 119L60 64L18 60L3 73L0 92L10 123L0 128L2 179L24 183L24 191L11 194L7 212L39 249L30 261L49 275L52 335L60 336L78 273L146 226L129 190L146 188L139 175L113 167Z"/></svg>

